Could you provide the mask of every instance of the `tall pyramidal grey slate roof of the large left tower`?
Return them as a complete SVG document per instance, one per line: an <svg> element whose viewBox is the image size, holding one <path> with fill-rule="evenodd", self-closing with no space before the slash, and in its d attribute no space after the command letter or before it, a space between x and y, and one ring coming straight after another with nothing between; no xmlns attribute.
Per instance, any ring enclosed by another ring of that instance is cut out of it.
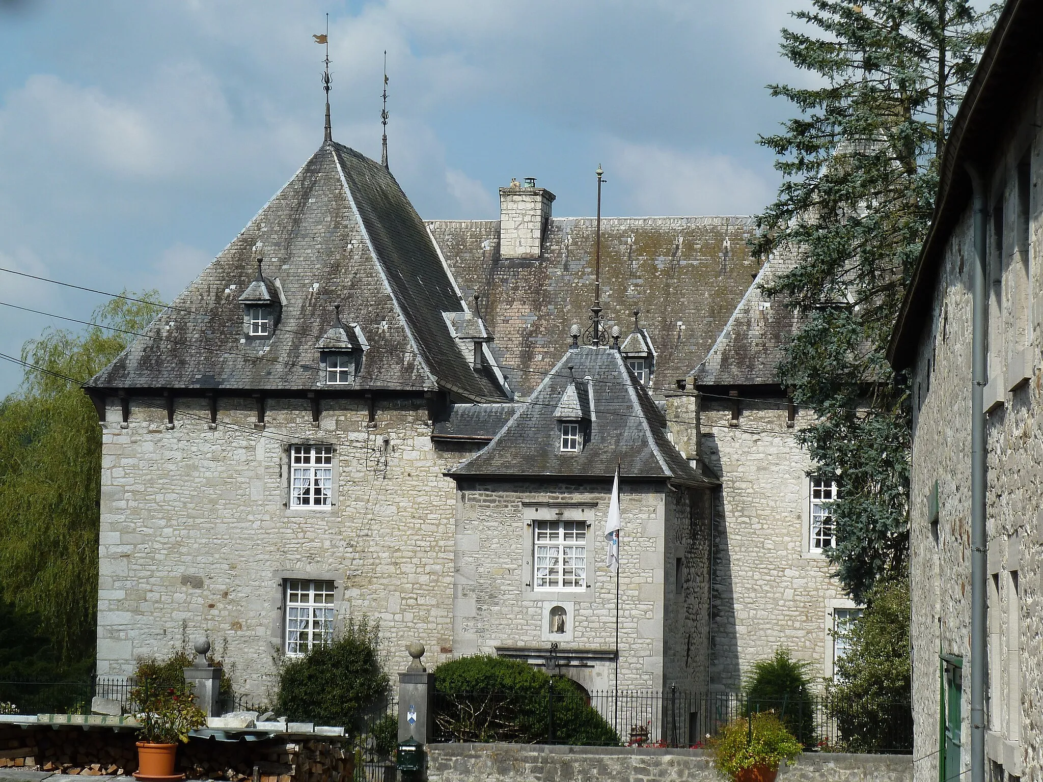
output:
<svg viewBox="0 0 1043 782"><path fill-rule="evenodd" d="M243 335L239 297L257 277L258 258L285 300L270 340ZM316 343L334 303L367 344L354 389L506 398L492 369L475 370L450 334L442 313L467 308L406 194L386 168L333 142L92 385L322 388Z"/></svg>

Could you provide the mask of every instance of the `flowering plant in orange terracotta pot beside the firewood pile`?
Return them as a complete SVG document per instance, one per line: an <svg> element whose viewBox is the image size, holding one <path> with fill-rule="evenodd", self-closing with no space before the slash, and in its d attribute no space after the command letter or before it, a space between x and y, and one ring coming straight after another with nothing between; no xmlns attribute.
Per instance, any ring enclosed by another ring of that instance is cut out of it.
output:
<svg viewBox="0 0 1043 782"><path fill-rule="evenodd" d="M178 780L174 774L177 742L187 742L189 732L207 724L207 715L196 706L191 685L180 681L163 681L164 677L140 676L130 698L138 704L137 719L141 740L138 741L140 780Z"/></svg>

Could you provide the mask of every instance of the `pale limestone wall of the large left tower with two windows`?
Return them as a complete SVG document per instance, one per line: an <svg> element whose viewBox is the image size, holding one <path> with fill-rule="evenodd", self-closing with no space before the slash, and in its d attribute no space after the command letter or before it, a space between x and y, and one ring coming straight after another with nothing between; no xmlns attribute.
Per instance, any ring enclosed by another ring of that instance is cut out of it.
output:
<svg viewBox="0 0 1043 782"><path fill-rule="evenodd" d="M110 400L110 402L115 400ZM102 424L98 673L126 675L137 657L210 637L238 691L263 699L282 642L282 582L336 583L338 624L381 621L389 670L419 640L426 662L453 655L455 485L465 454L433 446L422 399L178 399L118 407ZM288 508L288 448L335 445L334 505Z"/></svg>

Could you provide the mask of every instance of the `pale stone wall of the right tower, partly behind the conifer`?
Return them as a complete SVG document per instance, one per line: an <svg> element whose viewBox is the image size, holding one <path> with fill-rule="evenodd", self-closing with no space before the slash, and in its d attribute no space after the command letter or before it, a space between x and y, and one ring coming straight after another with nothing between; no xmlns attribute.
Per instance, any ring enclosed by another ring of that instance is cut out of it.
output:
<svg viewBox="0 0 1043 782"><path fill-rule="evenodd" d="M787 427L784 399L702 400L703 459L722 475L713 517L710 686L737 689L757 660L783 645L831 674L833 608L853 606L821 554L808 551L807 453ZM677 424L673 424L677 425Z"/></svg>

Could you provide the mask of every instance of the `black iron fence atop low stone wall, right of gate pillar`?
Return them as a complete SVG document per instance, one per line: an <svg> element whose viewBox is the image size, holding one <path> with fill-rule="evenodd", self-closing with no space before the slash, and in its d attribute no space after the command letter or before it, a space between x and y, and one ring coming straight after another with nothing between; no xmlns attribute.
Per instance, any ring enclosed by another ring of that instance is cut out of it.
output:
<svg viewBox="0 0 1043 782"><path fill-rule="evenodd" d="M774 712L805 751L913 750L908 702L827 694L781 700L726 692L596 691L552 684L540 693L435 693L435 741L699 748L728 723Z"/></svg>

